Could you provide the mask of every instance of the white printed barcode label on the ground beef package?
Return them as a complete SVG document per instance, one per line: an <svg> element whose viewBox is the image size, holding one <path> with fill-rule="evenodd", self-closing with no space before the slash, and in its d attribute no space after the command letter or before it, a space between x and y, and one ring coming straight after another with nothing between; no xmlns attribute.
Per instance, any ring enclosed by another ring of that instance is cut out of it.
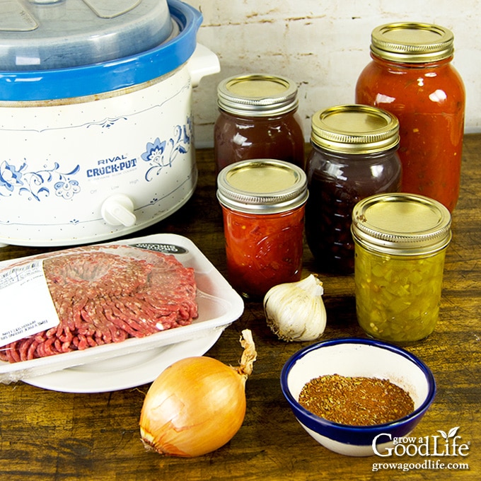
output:
<svg viewBox="0 0 481 481"><path fill-rule="evenodd" d="M42 260L0 274L0 347L59 325Z"/></svg>

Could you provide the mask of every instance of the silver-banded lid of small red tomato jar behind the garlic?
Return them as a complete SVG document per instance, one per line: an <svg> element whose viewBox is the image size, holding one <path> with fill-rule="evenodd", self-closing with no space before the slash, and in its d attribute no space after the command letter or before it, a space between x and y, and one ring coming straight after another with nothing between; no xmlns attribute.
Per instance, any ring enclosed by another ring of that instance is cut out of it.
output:
<svg viewBox="0 0 481 481"><path fill-rule="evenodd" d="M307 198L306 173L285 161L239 161L217 176L217 199L235 211L275 214L300 207Z"/></svg>

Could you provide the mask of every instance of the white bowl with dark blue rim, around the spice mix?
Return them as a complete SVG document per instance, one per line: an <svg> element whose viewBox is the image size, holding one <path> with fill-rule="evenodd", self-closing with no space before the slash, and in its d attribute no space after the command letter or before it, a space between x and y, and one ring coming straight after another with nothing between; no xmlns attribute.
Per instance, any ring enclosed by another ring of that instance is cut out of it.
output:
<svg viewBox="0 0 481 481"><path fill-rule="evenodd" d="M388 379L410 394L415 409L401 419L373 426L349 426L318 417L299 404L299 394L308 381L328 374ZM296 352L284 364L281 388L308 434L346 456L386 453L395 438L407 436L417 426L436 395L431 370L415 355L386 342L356 338L326 340Z"/></svg>

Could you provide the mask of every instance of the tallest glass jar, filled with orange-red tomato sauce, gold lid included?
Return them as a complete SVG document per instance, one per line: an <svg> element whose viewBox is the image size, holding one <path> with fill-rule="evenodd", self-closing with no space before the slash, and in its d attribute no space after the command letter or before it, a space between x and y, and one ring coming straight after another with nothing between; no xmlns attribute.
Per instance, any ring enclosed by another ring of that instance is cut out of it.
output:
<svg viewBox="0 0 481 481"><path fill-rule="evenodd" d="M458 201L465 89L453 59L453 33L439 25L389 23L371 34L371 58L356 102L375 105L400 122L401 190Z"/></svg>

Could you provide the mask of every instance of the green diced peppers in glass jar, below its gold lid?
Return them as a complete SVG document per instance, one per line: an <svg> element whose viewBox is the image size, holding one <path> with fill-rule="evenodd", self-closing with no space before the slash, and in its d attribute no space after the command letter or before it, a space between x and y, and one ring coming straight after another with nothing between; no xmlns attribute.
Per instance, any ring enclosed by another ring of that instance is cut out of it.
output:
<svg viewBox="0 0 481 481"><path fill-rule="evenodd" d="M439 317L445 251L429 257L378 255L356 248L356 308L363 330L383 340L413 342Z"/></svg>

